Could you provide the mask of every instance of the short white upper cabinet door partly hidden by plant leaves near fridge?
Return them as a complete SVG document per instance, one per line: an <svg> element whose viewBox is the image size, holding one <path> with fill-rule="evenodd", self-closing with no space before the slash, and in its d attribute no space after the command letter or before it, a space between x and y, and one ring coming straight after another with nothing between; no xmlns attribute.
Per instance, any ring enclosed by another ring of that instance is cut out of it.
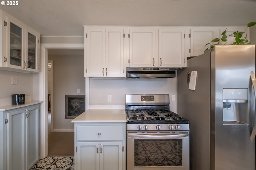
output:
<svg viewBox="0 0 256 170"><path fill-rule="evenodd" d="M190 56L197 56L204 53L207 48L206 43L211 42L214 38L219 38L217 28L198 28L190 30Z"/></svg>

